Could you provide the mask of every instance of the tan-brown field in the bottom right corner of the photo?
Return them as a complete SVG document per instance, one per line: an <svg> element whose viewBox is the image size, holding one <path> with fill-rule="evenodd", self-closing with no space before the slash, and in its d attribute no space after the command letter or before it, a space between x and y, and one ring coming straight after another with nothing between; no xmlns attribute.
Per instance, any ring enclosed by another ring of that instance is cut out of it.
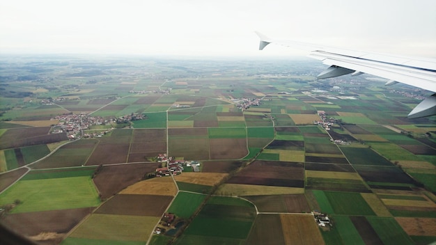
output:
<svg viewBox="0 0 436 245"><path fill-rule="evenodd" d="M404 218L397 217L407 235L436 237L436 219L432 218Z"/></svg>

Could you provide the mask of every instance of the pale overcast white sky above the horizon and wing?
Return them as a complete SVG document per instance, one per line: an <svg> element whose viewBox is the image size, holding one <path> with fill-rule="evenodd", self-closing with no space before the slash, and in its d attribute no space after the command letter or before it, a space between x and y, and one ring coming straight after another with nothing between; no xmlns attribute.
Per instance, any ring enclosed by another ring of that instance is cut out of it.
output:
<svg viewBox="0 0 436 245"><path fill-rule="evenodd" d="M275 56L260 31L436 57L435 0L0 0L0 53Z"/></svg>

